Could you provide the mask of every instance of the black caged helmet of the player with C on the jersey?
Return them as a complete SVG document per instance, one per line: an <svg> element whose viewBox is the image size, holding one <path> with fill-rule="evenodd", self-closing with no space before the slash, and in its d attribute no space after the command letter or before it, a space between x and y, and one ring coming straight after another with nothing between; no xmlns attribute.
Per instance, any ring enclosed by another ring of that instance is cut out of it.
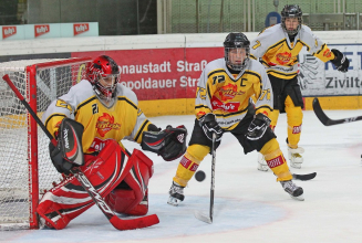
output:
<svg viewBox="0 0 362 243"><path fill-rule="evenodd" d="M250 42L248 38L244 33L229 33L225 41L224 41L224 49L225 49L225 61L226 64L235 71L242 71L246 66L247 61L249 60L250 55ZM246 52L246 56L241 60L241 63L232 63L229 59L229 52L232 49L244 49Z"/></svg>

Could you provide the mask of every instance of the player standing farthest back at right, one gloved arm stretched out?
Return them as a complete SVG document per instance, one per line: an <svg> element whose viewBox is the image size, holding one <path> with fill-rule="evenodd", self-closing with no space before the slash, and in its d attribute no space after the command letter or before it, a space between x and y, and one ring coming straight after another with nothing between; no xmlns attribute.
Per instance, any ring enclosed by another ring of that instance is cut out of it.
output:
<svg viewBox="0 0 362 243"><path fill-rule="evenodd" d="M265 29L250 43L250 53L263 64L273 91L273 112L270 114L275 129L280 113L287 113L288 157L290 166L301 168L304 151L299 140L302 129L303 99L298 84L298 54L303 46L323 62L331 61L338 71L347 72L349 60L339 50L330 50L310 28L301 24L302 11L297 4L288 4L281 11L281 23ZM268 167L259 155L258 169Z"/></svg>

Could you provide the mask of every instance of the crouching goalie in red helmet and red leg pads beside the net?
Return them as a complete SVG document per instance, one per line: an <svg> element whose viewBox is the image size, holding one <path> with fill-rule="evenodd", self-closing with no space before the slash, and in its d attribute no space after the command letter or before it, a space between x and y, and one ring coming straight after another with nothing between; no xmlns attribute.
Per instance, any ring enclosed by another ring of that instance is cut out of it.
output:
<svg viewBox="0 0 362 243"><path fill-rule="evenodd" d="M43 114L45 127L58 140L56 147L50 144L51 160L59 172L68 175L43 196L37 208L50 228L65 228L94 204L70 173L76 165L64 157L62 145L76 144L83 148L72 149L84 154L85 163L79 165L80 169L111 209L130 215L144 215L148 211L147 186L153 161L137 149L130 154L121 140L138 142L144 150L167 161L186 150L186 128L157 128L141 110L135 93L120 83L120 77L115 61L101 55L89 63L85 77L53 101ZM69 139L71 131L62 128L64 123L83 127L80 139Z"/></svg>

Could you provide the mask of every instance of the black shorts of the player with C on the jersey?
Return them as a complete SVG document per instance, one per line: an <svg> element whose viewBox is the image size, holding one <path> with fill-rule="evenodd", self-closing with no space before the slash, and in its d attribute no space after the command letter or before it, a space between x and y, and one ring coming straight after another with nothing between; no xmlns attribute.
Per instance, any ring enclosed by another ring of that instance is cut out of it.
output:
<svg viewBox="0 0 362 243"><path fill-rule="evenodd" d="M248 127L251 120L254 119L254 115L255 115L254 105L249 104L247 115L244 117L244 119L232 130L225 130L225 133L231 133L238 139L239 144L244 148L244 154L248 154L255 149L257 151L260 151L260 149L265 146L265 144L267 144L272 138L276 138L276 135L273 134L271 128L268 127L267 131L259 140L247 139L245 135L247 134ZM216 142L215 148L219 147L221 140ZM192 138L188 142L188 146L190 145L204 145L210 148L213 147L213 141L206 137L197 119L195 119L194 130L192 134Z"/></svg>

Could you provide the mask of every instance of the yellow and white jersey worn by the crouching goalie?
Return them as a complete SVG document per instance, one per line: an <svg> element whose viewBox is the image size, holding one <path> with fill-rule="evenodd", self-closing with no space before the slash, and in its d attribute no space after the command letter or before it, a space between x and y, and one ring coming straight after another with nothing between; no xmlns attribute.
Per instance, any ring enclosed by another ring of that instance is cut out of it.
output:
<svg viewBox="0 0 362 243"><path fill-rule="evenodd" d="M102 150L108 139L116 140L121 146L123 138L141 144L142 133L147 130L151 124L138 108L138 101L133 91L117 84L115 104L107 108L96 97L86 80L53 101L43 114L42 120L54 136L64 117L84 126L82 145L85 154Z"/></svg>

